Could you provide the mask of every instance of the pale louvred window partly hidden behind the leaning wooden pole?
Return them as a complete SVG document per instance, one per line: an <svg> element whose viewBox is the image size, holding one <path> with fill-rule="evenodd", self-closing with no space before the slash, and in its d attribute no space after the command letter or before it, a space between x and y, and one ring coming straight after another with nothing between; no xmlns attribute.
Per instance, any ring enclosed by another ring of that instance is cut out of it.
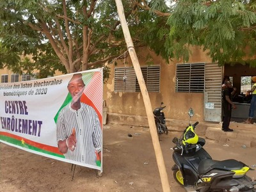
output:
<svg viewBox="0 0 256 192"><path fill-rule="evenodd" d="M160 66L144 66L141 72L148 92L160 91ZM115 68L115 92L140 92L134 68Z"/></svg>

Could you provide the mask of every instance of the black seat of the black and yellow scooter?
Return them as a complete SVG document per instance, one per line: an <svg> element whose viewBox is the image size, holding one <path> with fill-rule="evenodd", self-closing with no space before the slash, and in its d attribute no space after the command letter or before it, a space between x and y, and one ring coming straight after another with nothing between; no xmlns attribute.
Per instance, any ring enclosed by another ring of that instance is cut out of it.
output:
<svg viewBox="0 0 256 192"><path fill-rule="evenodd" d="M212 160L212 159L202 159L198 166L199 175L203 175L210 172L213 169L218 170L239 170L243 168L244 164L235 159L227 159L223 161Z"/></svg>

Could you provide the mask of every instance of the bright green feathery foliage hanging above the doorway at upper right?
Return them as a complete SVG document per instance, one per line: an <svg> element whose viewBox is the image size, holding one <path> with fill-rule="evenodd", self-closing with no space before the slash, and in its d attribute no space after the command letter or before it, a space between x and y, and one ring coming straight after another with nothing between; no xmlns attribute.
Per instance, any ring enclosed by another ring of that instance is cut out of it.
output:
<svg viewBox="0 0 256 192"><path fill-rule="evenodd" d="M255 67L252 59L256 51L255 4L255 1L180 0L168 18L168 55L188 61L189 47L198 45L220 65L240 62Z"/></svg>

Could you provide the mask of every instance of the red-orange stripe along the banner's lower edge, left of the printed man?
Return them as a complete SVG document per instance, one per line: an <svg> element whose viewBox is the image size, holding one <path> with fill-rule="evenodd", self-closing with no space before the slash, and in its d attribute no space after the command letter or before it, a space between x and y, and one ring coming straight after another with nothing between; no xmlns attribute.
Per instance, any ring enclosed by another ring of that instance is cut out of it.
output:
<svg viewBox="0 0 256 192"><path fill-rule="evenodd" d="M42 144L42 143L37 143L37 142L35 142L35 141L31 141L31 140L28 140L28 139L26 139L26 138L22 138L22 137L20 137L20 136L17 136L17 135L15 135L15 134L11 134L11 133L9 133L9 132L0 131L0 135L8 136L8 137L13 138L13 139L15 139L15 140L20 140L20 142L21 142L21 140L24 140L26 144L31 145L31 146L33 146L33 147L41 148L41 149L47 150L47 151L52 152L52 153L55 153L55 154L63 155L63 154L59 151L58 147L52 147L52 146L50 146L50 145L44 145L44 144Z"/></svg>

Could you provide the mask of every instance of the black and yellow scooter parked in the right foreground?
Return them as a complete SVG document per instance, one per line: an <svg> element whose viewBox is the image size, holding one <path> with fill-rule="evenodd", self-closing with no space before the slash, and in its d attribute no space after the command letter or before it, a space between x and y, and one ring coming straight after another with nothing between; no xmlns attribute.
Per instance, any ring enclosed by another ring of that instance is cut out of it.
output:
<svg viewBox="0 0 256 192"><path fill-rule="evenodd" d="M188 114L191 118L193 109L190 108ZM180 139L173 138L174 179L186 191L256 191L256 181L246 175L253 169L235 159L213 160L203 148L204 138L195 132L198 122L191 125L190 118Z"/></svg>

